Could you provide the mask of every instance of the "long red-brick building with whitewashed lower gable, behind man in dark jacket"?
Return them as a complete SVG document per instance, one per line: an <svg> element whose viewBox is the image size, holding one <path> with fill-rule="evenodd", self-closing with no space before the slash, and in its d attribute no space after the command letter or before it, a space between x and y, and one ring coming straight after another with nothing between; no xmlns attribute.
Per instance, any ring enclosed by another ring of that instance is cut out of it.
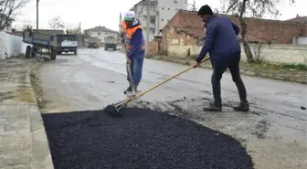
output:
<svg viewBox="0 0 307 169"><path fill-rule="evenodd" d="M226 16L238 26L238 18ZM307 44L307 24L270 19L245 18L247 40L258 44ZM196 12L179 10L161 30L162 41L151 44L152 53L187 57L196 55L206 38L204 23ZM240 35L238 35L240 39ZM156 51L158 49L158 51Z"/></svg>

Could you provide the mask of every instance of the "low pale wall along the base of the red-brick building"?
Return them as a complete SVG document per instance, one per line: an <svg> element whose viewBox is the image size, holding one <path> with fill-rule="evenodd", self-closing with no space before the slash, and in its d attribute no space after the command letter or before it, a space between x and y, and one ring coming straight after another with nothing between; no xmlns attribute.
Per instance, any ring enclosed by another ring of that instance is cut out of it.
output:
<svg viewBox="0 0 307 169"><path fill-rule="evenodd" d="M241 45L242 60L246 60L246 54ZM307 64L307 45L286 44L250 44L251 52L255 59L270 63L302 63ZM199 54L201 47L195 45L168 45L167 54L179 58Z"/></svg>

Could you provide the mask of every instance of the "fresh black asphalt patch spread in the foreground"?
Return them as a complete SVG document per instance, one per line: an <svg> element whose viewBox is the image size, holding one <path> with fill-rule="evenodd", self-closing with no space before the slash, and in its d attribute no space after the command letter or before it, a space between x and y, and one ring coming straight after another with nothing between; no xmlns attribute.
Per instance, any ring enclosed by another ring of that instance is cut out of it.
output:
<svg viewBox="0 0 307 169"><path fill-rule="evenodd" d="M43 114L55 168L253 168L245 148L224 133L165 112L122 112L122 118L103 111Z"/></svg>

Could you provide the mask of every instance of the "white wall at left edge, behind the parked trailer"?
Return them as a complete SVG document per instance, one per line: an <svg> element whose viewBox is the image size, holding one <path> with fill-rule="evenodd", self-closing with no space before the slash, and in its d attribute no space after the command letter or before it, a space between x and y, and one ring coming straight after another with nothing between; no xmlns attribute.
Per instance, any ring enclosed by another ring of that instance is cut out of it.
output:
<svg viewBox="0 0 307 169"><path fill-rule="evenodd" d="M0 32L0 59L10 58L24 54L27 44L22 37Z"/></svg>

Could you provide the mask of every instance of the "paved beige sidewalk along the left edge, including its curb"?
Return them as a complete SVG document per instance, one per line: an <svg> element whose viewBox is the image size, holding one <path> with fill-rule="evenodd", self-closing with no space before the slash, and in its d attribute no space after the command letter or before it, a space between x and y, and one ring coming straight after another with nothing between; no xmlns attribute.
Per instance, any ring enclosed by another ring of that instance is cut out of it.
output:
<svg viewBox="0 0 307 169"><path fill-rule="evenodd" d="M0 168L53 169L30 82L35 59L0 61Z"/></svg>

